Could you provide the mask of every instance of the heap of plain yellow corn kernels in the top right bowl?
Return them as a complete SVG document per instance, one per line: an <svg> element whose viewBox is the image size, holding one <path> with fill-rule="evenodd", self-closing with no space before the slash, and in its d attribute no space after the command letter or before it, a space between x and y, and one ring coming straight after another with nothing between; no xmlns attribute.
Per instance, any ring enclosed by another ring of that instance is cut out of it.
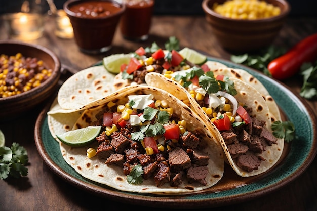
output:
<svg viewBox="0 0 317 211"><path fill-rule="evenodd" d="M281 9L265 1L229 0L223 4L215 3L213 10L232 19L256 20L277 16Z"/></svg>

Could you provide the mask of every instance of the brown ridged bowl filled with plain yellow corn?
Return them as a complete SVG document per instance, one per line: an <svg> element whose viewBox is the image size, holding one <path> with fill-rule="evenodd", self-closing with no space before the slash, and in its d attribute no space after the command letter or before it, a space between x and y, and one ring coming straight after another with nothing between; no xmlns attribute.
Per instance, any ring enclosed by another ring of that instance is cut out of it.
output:
<svg viewBox="0 0 317 211"><path fill-rule="evenodd" d="M286 0L203 0L212 33L231 52L250 52L272 43L291 10Z"/></svg>

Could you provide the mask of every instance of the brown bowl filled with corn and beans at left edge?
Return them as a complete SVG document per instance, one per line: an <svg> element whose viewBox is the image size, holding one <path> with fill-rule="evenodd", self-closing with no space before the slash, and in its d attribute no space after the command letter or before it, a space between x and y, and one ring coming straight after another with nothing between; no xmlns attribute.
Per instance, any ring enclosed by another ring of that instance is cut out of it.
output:
<svg viewBox="0 0 317 211"><path fill-rule="evenodd" d="M0 119L17 117L57 89L61 63L49 49L0 40Z"/></svg>

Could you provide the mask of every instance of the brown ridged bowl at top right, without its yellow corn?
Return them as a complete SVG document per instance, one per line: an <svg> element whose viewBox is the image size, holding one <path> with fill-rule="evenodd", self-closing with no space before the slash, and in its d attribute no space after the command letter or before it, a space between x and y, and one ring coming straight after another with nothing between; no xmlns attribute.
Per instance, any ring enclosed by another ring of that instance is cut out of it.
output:
<svg viewBox="0 0 317 211"><path fill-rule="evenodd" d="M204 0L202 8L207 22L220 45L232 52L249 52L259 50L272 43L290 12L290 5L285 0L265 0L281 9L278 16L243 20L222 16L212 10L214 3L223 4L225 0Z"/></svg>

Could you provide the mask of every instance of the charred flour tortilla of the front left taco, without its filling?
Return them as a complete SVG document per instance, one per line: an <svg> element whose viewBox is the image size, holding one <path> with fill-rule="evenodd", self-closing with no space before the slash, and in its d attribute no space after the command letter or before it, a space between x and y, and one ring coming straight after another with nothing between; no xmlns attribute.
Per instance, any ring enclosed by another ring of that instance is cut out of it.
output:
<svg viewBox="0 0 317 211"><path fill-rule="evenodd" d="M198 130L201 133L202 139L208 143L207 148L204 149L204 152L210 157L208 163L209 174L206 177L207 185L202 185L198 182L184 179L183 183L178 187L171 187L170 184L164 184L163 186L157 187L155 185L154 178L143 180L143 183L140 185L129 184L127 182L126 176L123 173L122 167L117 165L108 166L99 160L97 156L92 158L88 158L86 156L86 150L89 147L97 149L97 141L90 146L79 148L70 147L60 143L61 153L65 161L83 177L122 191L156 194L178 194L200 191L215 185L222 178L224 172L224 153L217 141L217 138L212 135L212 131L210 131L210 129L205 125L205 122L201 119L200 114L196 114L183 102L164 90L150 86L129 86L122 88L120 91L110 94L107 97L100 99L98 102L89 103L86 105L86 109L78 111L83 112L81 113L81 116L75 122L70 121L68 124L72 124L72 129L89 126L94 120L96 120L94 115L102 110L108 102L125 102L127 101L129 95L140 94L152 94L155 100L167 100L169 107L173 108L173 115L176 115L180 119L186 121L186 130L192 132ZM54 108L54 106L52 108ZM52 116L49 121L50 131L52 136L56 137L56 133L61 132L61 127L63 127L63 122L55 122L61 121L62 119L57 118L56 115L58 117L63 115L68 117L69 113L56 114L53 112L49 115ZM75 115L78 115L78 113Z"/></svg>

